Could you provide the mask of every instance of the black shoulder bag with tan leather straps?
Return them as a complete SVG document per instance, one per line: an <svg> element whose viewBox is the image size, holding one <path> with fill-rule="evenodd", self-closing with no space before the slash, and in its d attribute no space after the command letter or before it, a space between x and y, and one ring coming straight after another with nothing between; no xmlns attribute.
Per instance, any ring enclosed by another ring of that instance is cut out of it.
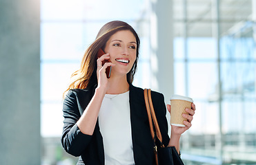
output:
<svg viewBox="0 0 256 165"><path fill-rule="evenodd" d="M156 165L184 165L181 158L179 157L179 154L177 153L175 146L165 147L162 143L161 132L157 122L157 118L155 116L150 89L144 89L144 98L148 113L150 133L154 142Z"/></svg>

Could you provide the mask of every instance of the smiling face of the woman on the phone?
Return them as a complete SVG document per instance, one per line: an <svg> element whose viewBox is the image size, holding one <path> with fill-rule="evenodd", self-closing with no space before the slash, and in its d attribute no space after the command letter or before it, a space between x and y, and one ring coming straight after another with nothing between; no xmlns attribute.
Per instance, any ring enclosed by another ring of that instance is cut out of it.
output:
<svg viewBox="0 0 256 165"><path fill-rule="evenodd" d="M105 52L110 54L110 61L115 64L112 74L128 74L136 60L136 38L130 30L121 30L110 36Z"/></svg>

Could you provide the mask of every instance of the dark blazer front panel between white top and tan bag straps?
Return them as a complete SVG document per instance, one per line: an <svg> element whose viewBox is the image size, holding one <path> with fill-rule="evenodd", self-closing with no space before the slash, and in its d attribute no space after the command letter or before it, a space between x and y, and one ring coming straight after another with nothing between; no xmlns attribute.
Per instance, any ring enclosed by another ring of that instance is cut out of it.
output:
<svg viewBox="0 0 256 165"><path fill-rule="evenodd" d="M154 162L153 142L148 124L144 90L130 85L130 121L135 164Z"/></svg>

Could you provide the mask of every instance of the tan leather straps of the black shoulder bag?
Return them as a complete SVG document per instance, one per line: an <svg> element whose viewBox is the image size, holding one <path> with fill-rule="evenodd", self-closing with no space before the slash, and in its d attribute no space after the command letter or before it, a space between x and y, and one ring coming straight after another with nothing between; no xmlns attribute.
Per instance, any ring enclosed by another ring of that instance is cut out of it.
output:
<svg viewBox="0 0 256 165"><path fill-rule="evenodd" d="M152 135L152 140L155 142L155 134L157 135L158 140L162 144L162 137L161 137L161 131L159 129L159 125L157 122L157 117L155 115L154 107L152 104L152 98L151 98L151 89L144 89L144 98L145 98L145 103L146 103L146 109L148 113L148 120L149 120L149 125L150 125L150 133ZM155 131L153 129L152 125L152 120L155 125ZM162 144L164 146L164 144Z"/></svg>

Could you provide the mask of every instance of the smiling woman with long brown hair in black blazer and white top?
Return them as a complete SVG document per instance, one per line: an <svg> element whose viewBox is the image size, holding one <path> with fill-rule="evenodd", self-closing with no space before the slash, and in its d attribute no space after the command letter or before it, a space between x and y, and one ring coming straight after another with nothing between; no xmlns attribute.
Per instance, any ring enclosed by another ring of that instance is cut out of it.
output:
<svg viewBox="0 0 256 165"><path fill-rule="evenodd" d="M99 49L106 52L100 58ZM101 28L83 56L81 68L72 74L63 102L61 142L68 153L79 156L77 164L154 164L144 90L132 85L138 56L135 30L122 21L112 21ZM112 67L110 78L107 67ZM179 139L191 126L195 104L186 109L186 126L172 126L169 137L164 96L152 91L152 102L164 145L175 146L179 153ZM170 111L169 104L167 109Z"/></svg>

